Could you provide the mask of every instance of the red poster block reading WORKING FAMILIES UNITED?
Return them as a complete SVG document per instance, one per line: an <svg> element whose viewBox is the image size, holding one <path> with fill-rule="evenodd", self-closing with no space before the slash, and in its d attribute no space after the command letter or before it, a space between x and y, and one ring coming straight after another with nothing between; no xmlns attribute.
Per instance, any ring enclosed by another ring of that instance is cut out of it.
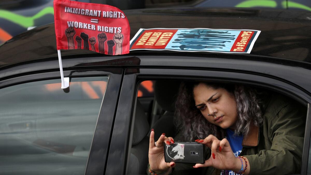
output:
<svg viewBox="0 0 311 175"><path fill-rule="evenodd" d="M165 49L178 30L148 30L143 31L132 45L131 49Z"/></svg>

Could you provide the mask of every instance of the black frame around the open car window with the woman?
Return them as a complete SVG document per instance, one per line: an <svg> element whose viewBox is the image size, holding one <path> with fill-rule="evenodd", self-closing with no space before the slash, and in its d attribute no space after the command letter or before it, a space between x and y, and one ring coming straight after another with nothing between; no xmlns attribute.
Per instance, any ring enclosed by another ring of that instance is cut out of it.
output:
<svg viewBox="0 0 311 175"><path fill-rule="evenodd" d="M160 80L160 79L176 79L176 80L204 80L214 82L227 82L227 83L246 83L250 85L256 85L259 87L266 87L282 92L283 94L290 96L298 102L308 106L311 103L311 97L299 86L294 86L288 82L281 81L281 79L273 78L271 76L250 74L249 72L229 72L229 71L217 71L217 70L196 70L187 68L167 68L167 69L138 69L136 73L133 73L132 69L126 69L123 83L120 92L119 104L117 107L114 130L112 133L111 145L108 154L107 167L109 171L106 171L107 175L113 174L125 174L126 165L128 164L128 158L131 149L131 132L130 128L134 120L132 119L135 113L136 99L137 99L137 87L138 82L143 80ZM121 102L121 103L120 103ZM307 116L307 121L311 120L310 113ZM119 122L121 121L121 122ZM311 124L306 124L305 127L305 140L304 151L302 160L308 159L310 137L306 137L310 133ZM307 153L307 154L306 154ZM120 162L121 160L121 162ZM307 162L302 162L301 174L306 174ZM114 165L118 164L117 167Z"/></svg>

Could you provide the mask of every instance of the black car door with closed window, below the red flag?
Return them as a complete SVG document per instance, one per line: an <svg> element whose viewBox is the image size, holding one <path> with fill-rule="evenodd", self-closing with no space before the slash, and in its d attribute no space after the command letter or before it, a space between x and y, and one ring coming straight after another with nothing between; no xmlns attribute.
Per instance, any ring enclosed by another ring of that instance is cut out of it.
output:
<svg viewBox="0 0 311 175"><path fill-rule="evenodd" d="M0 174L103 174L123 69L0 82ZM94 171L96 169L96 171Z"/></svg>

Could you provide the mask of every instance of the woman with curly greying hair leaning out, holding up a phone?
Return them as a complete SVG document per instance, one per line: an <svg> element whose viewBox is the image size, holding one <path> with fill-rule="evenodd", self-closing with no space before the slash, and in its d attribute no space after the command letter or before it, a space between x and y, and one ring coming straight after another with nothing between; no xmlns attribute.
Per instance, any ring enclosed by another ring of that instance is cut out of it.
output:
<svg viewBox="0 0 311 175"><path fill-rule="evenodd" d="M207 160L165 163L162 143L174 138L163 133L155 142L152 130L149 174L300 172L306 109L294 100L243 85L197 82L181 84L175 107L175 141L205 144Z"/></svg>

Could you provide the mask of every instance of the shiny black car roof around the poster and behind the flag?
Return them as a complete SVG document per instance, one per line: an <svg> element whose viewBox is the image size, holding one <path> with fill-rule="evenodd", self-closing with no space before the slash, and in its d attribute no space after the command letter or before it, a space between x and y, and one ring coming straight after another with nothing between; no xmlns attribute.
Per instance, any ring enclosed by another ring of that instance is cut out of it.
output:
<svg viewBox="0 0 311 175"><path fill-rule="evenodd" d="M228 59L236 59L239 56L233 55L240 55L244 59L254 56L257 59L265 57L268 62L277 59L290 59L307 64L311 63L311 12L278 9L182 7L126 10L124 13L130 23L131 38L140 28L211 28L261 31L250 54L184 52L183 55L204 55L214 58L220 55L220 57ZM131 56L140 52L146 55L180 54L176 52L174 54L171 51L138 50L131 51L128 55ZM54 24L36 27L13 37L0 47L0 53L0 69L29 61L54 60L57 58ZM66 58L66 55L110 57L89 50L62 50L62 56Z"/></svg>

